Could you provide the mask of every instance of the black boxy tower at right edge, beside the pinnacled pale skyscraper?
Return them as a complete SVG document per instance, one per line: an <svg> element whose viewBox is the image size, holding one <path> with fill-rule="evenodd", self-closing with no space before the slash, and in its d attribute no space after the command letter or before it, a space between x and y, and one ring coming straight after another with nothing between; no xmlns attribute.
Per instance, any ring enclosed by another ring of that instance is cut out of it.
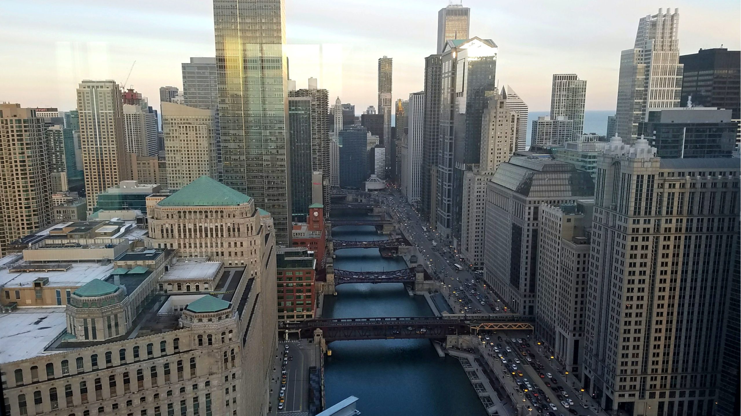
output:
<svg viewBox="0 0 741 416"><path fill-rule="evenodd" d="M734 120L741 118L740 61L741 51L725 47L679 56L679 63L685 65L680 107L687 107L691 96L692 107L731 110Z"/></svg>

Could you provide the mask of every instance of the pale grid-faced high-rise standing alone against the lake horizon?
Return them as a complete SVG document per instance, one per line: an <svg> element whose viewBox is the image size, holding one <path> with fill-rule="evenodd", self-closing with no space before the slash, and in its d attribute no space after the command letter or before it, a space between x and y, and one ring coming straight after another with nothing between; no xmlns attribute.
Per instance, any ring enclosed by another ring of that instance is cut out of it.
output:
<svg viewBox="0 0 741 416"><path fill-rule="evenodd" d="M571 140L578 140L584 132L584 104L587 81L576 74L554 74L551 89L551 118L564 116L574 120Z"/></svg>

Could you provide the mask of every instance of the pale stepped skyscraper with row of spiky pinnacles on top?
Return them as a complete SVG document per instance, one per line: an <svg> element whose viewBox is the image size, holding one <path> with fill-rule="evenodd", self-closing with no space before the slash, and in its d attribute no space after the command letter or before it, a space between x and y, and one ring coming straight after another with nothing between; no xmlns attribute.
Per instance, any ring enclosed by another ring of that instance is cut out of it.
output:
<svg viewBox="0 0 741 416"><path fill-rule="evenodd" d="M633 49L623 50L617 85L617 135L632 143L638 123L652 108L679 106L682 64L679 64L679 10L659 9L642 17Z"/></svg>

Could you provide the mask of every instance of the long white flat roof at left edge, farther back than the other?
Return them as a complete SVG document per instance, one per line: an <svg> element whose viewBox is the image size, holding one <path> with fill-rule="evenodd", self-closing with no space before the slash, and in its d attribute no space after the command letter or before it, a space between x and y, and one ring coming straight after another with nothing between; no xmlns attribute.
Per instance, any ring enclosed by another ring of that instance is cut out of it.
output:
<svg viewBox="0 0 741 416"><path fill-rule="evenodd" d="M44 285L45 287L82 286L96 278L107 278L110 272L113 272L113 263L100 264L95 261L62 261L62 263L72 266L65 271L49 272L11 272L7 268L0 269L0 286L4 286L5 289L30 287L37 278L49 278L49 283Z"/></svg>

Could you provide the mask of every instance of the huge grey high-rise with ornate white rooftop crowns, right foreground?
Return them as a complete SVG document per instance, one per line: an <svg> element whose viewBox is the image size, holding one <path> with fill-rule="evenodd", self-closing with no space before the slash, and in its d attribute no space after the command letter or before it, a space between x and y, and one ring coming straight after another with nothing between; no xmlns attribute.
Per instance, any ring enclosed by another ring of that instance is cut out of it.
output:
<svg viewBox="0 0 741 416"><path fill-rule="evenodd" d="M615 137L605 147L597 161L583 378L602 408L717 414L718 389L732 381L719 374L739 175L738 159L657 158L645 139L630 146Z"/></svg>

